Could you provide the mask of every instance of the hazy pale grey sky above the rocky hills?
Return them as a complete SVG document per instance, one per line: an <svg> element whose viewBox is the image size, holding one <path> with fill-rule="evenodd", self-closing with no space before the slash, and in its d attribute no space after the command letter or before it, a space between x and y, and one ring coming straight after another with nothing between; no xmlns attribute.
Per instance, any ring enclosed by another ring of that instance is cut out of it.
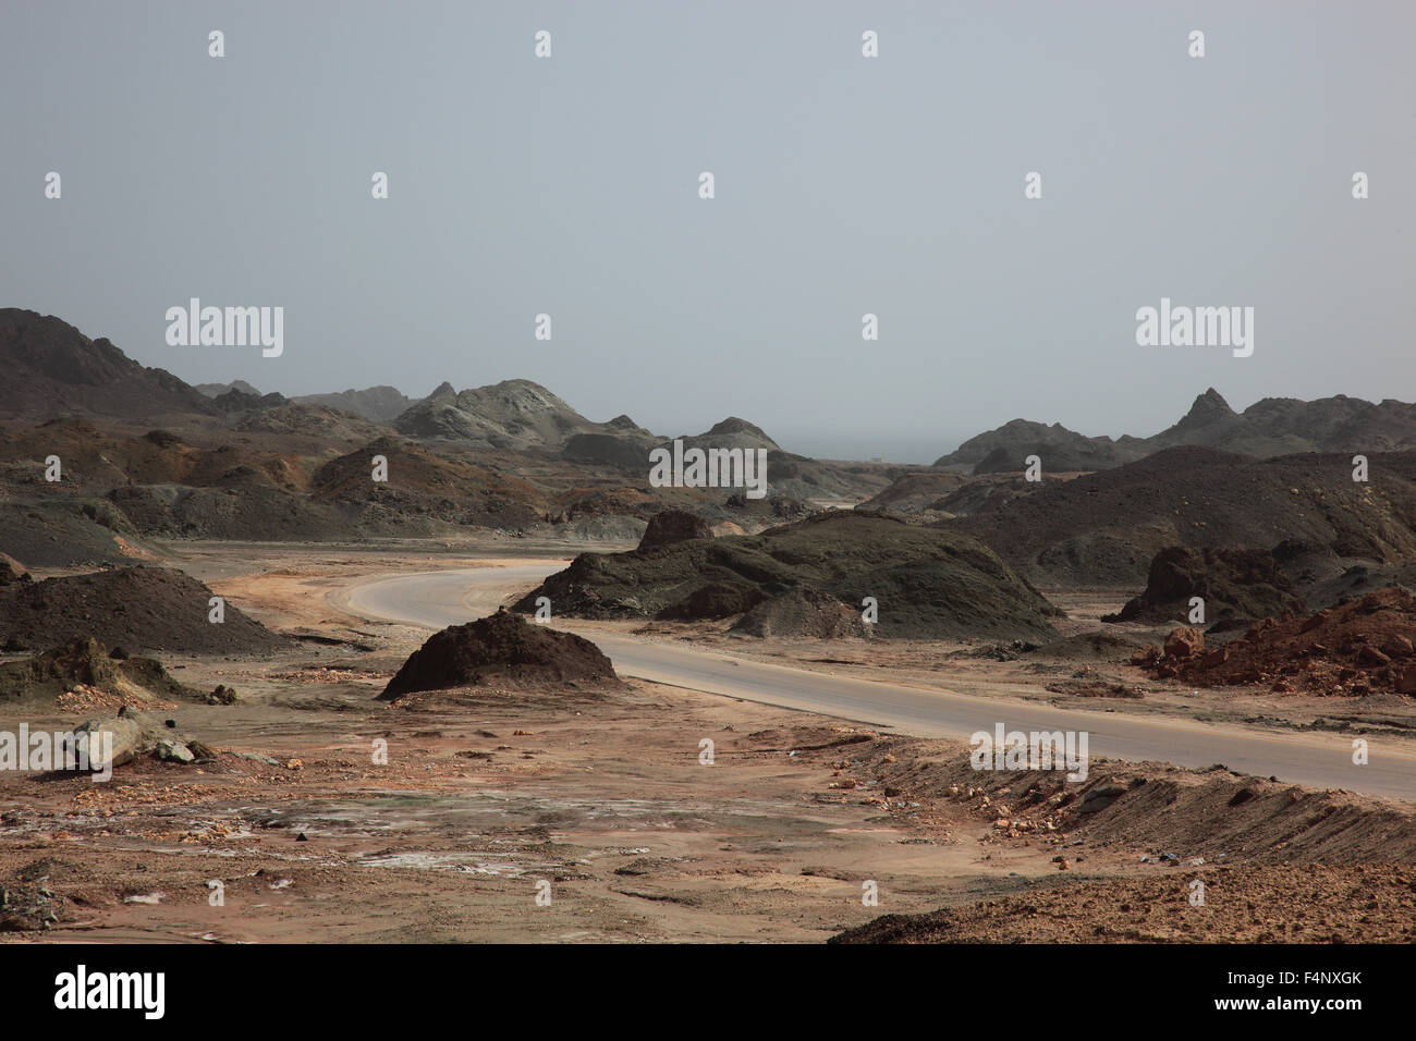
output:
<svg viewBox="0 0 1416 1041"><path fill-rule="evenodd" d="M823 456L1412 399L1413 38L1406 0L0 0L0 305L190 382L524 377ZM283 306L283 355L169 347L191 296ZM1161 296L1253 306L1253 355L1138 347Z"/></svg>

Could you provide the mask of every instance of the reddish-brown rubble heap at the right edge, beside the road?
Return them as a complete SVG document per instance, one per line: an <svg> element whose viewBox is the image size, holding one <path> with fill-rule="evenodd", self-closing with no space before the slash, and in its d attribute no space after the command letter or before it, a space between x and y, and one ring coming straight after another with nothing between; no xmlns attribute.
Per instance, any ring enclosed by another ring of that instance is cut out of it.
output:
<svg viewBox="0 0 1416 1041"><path fill-rule="evenodd" d="M1195 636L1177 630L1164 652L1150 647L1136 663L1205 687L1266 683L1280 693L1416 694L1416 598L1396 586L1308 618L1266 618L1216 650L1206 652Z"/></svg>

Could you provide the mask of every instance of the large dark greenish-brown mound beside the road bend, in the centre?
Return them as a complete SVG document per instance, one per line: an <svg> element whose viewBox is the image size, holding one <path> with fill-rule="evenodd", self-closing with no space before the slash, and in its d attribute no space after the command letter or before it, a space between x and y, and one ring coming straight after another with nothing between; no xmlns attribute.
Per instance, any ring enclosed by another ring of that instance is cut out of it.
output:
<svg viewBox="0 0 1416 1041"><path fill-rule="evenodd" d="M800 585L847 605L875 598L875 635L886 639L1056 636L1056 608L987 547L860 511L650 554L581 554L515 606L531 612L538 596L549 596L558 615L719 619Z"/></svg>

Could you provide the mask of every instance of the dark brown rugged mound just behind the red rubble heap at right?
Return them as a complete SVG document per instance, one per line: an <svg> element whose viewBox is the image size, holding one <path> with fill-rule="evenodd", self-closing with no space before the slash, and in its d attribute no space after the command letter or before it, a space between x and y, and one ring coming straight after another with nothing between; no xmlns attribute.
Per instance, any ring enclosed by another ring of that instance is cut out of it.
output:
<svg viewBox="0 0 1416 1041"><path fill-rule="evenodd" d="M1276 618L1301 612L1298 596L1273 554L1238 547L1172 545L1151 561L1146 592L1103 622L1184 622L1189 601L1205 602L1205 623Z"/></svg>

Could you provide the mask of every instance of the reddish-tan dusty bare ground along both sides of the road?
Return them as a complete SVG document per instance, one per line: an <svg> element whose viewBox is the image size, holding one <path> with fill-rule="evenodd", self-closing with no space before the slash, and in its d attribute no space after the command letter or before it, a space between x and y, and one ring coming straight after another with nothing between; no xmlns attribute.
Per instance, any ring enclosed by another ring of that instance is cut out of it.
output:
<svg viewBox="0 0 1416 1041"><path fill-rule="evenodd" d="M518 550L517 562L561 555ZM511 557L506 542L169 551L299 642L252 657L163 656L183 683L239 694L159 707L214 759L140 759L98 785L0 773L0 939L1416 939L1406 804L1164 763L1093 761L1080 786L976 773L961 742L637 680L389 705L375 694L428 633L351 618L338 591L370 575L496 567ZM1083 599L1063 605L1078 633L1119 603ZM1095 698L1046 690L1085 681L1087 667L1140 677L1110 650L1039 660L986 644L752 646L674 629L733 653L1017 697ZM1221 711L1174 684L1144 694L1114 701ZM1298 704L1273 701L1279 714ZM65 704L0 705L0 731L93 714ZM1317 710L1294 711L1284 725L1311 725L1301 714Z"/></svg>

